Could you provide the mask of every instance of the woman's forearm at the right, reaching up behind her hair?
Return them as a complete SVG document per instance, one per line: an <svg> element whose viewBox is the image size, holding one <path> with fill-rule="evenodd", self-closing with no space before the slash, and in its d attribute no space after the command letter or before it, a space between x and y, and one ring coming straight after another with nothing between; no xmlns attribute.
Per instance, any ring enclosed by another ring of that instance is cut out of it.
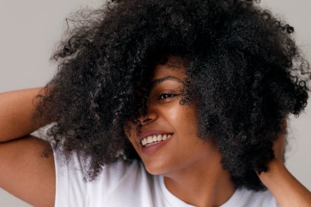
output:
<svg viewBox="0 0 311 207"><path fill-rule="evenodd" d="M311 207L311 192L285 167L285 133L280 136L273 147L275 158L269 163L269 170L258 175L259 179L271 191L280 207Z"/></svg>

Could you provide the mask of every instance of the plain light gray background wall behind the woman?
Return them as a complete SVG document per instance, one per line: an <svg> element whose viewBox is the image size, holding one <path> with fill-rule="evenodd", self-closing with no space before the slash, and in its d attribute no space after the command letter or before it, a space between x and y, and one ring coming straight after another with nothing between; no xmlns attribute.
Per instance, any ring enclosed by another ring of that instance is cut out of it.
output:
<svg viewBox="0 0 311 207"><path fill-rule="evenodd" d="M80 6L100 0L0 0L0 92L43 86L55 72L49 57L60 39L64 19ZM295 27L296 39L311 57L311 1L261 0ZM309 58L310 61L310 58ZM311 104L289 122L286 163L292 174L311 190ZM30 207L0 189L0 207Z"/></svg>

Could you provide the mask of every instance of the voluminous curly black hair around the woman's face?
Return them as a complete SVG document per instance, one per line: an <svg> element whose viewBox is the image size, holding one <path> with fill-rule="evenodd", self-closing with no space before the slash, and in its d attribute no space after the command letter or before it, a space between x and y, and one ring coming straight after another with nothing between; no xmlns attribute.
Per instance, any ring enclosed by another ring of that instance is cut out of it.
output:
<svg viewBox="0 0 311 207"><path fill-rule="evenodd" d="M66 152L91 157L91 179L120 151L138 158L124 125L146 108L156 63L173 55L186 60L181 104L197 100L199 137L214 139L236 187L265 189L254 170L267 170L280 123L308 99L293 27L252 0L111 0L67 23L35 118L56 123Z"/></svg>

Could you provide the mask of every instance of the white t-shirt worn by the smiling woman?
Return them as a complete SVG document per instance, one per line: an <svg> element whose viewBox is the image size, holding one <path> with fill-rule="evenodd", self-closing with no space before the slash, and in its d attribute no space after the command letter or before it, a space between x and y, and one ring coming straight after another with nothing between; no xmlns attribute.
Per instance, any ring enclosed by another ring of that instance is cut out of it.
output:
<svg viewBox="0 0 311 207"><path fill-rule="evenodd" d="M65 164L54 150L55 207L193 207L171 194L163 176L149 174L138 160L120 158L106 165L94 181L84 181L85 160L73 156ZM221 207L278 207L269 191L236 190Z"/></svg>

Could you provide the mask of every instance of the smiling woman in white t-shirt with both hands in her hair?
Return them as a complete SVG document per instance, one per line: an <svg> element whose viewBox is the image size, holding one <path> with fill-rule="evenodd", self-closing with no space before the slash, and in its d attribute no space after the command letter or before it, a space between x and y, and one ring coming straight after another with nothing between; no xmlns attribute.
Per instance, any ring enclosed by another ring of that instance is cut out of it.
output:
<svg viewBox="0 0 311 207"><path fill-rule="evenodd" d="M2 188L35 206L311 205L283 163L310 81L291 26L249 0L113 1L82 16L44 90L1 96L1 141L49 123L56 141L1 143Z"/></svg>

